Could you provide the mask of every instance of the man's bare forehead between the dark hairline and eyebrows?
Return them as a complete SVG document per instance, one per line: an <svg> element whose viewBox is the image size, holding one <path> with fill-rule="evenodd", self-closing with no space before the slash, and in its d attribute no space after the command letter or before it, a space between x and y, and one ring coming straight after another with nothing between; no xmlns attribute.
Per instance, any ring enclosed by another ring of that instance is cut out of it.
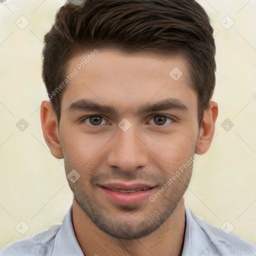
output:
<svg viewBox="0 0 256 256"><path fill-rule="evenodd" d="M68 62L68 81L61 107L90 98L128 110L143 102L177 98L196 105L191 89L189 67L180 55L152 52L123 53L116 50L87 51Z"/></svg>

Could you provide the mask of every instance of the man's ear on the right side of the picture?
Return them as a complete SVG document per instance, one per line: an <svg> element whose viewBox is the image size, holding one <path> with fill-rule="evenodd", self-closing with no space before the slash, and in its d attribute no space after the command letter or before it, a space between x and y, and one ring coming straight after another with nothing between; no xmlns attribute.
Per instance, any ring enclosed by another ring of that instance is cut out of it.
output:
<svg viewBox="0 0 256 256"><path fill-rule="evenodd" d="M218 104L210 101L209 106L203 112L202 122L195 146L195 152L205 153L211 144L215 131L215 122L218 115Z"/></svg>

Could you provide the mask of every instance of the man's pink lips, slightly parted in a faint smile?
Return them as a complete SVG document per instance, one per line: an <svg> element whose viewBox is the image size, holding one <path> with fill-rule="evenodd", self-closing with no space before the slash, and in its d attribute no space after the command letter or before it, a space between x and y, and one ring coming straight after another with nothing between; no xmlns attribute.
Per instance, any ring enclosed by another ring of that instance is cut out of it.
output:
<svg viewBox="0 0 256 256"><path fill-rule="evenodd" d="M150 187L148 190L140 190L136 192L128 192L128 193L122 193L118 191L113 191L107 188L117 188L117 189L123 189L123 190L134 190L136 188L143 188L143 187ZM102 191L103 195L110 199L112 202L116 204L137 204L145 199L148 199L149 196L153 193L153 190L156 186L144 183L144 182L133 182L133 183L123 183L123 182L108 182L99 185L100 190Z"/></svg>

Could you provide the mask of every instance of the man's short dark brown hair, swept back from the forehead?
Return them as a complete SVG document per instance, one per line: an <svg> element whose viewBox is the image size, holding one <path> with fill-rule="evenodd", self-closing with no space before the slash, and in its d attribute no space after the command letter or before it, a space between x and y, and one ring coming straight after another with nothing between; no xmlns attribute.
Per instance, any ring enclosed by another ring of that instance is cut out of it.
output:
<svg viewBox="0 0 256 256"><path fill-rule="evenodd" d="M44 36L42 66L58 120L64 89L52 92L65 79L68 61L79 51L95 48L185 54L201 123L215 86L215 43L208 15L195 0L85 0L80 6L63 5Z"/></svg>

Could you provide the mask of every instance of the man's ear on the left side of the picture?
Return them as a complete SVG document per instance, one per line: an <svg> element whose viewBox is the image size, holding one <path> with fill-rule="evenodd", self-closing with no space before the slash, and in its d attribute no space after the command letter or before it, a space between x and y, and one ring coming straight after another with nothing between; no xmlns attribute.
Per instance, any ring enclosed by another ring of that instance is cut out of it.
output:
<svg viewBox="0 0 256 256"><path fill-rule="evenodd" d="M51 154L58 159L63 158L59 143L57 115L50 101L42 101L40 115L42 134Z"/></svg>

